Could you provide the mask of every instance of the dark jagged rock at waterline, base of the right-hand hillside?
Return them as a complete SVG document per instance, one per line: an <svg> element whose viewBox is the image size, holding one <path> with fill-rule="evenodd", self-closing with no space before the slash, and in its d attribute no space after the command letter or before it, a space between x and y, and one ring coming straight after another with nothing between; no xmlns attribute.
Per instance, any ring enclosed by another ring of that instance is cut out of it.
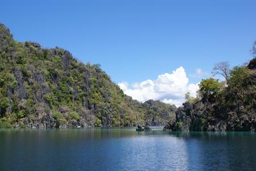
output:
<svg viewBox="0 0 256 171"><path fill-rule="evenodd" d="M164 130L169 131L255 131L255 114L228 112L226 117L210 115L210 104L183 103L176 111L176 121L169 122Z"/></svg>

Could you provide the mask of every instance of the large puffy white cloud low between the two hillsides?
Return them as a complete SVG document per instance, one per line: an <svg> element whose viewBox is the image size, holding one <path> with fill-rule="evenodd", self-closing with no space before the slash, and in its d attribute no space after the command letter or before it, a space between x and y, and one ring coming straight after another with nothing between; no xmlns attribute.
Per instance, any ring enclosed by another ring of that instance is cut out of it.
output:
<svg viewBox="0 0 256 171"><path fill-rule="evenodd" d="M140 102L154 99L176 106L182 105L185 93L189 91L195 97L196 91L199 89L198 84L189 84L185 69L182 66L172 73L160 74L156 80L146 80L131 85L127 82L121 82L118 85L125 94Z"/></svg>

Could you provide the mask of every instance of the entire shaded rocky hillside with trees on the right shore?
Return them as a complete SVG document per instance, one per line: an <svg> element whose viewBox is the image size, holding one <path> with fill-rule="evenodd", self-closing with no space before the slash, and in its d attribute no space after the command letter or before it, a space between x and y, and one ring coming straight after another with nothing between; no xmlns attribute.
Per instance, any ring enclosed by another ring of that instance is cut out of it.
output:
<svg viewBox="0 0 256 171"><path fill-rule="evenodd" d="M253 55L255 45L256 41ZM218 70L226 76L224 82L213 78L201 81L198 97L187 97L177 109L176 119L170 120L164 130L256 131L256 57L247 66L226 71Z"/></svg>

